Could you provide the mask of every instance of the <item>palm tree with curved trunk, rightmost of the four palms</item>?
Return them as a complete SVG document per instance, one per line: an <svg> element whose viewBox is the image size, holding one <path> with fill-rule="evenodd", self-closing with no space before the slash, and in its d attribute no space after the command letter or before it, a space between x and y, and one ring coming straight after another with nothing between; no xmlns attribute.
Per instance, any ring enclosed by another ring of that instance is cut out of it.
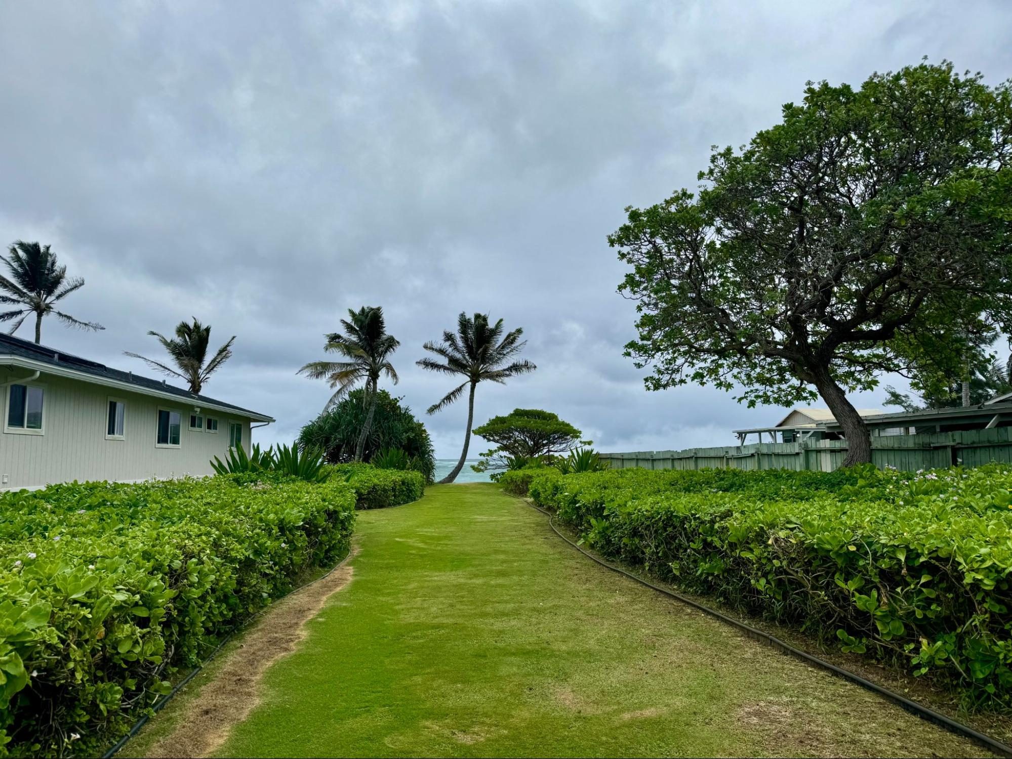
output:
<svg viewBox="0 0 1012 759"><path fill-rule="evenodd" d="M471 444L471 426L475 421L475 388L483 380L491 380L494 383L505 385L511 376L533 371L537 367L530 361L512 361L503 366L507 360L515 356L527 341L518 342L523 334L521 328L517 328L503 334L503 320L500 319L494 326L489 326L488 314L475 314L474 319L469 319L468 315L460 313L456 319L456 334L443 332L441 343L431 341L422 347L425 350L435 353L444 362L433 360L432 358L422 358L418 365L431 371L441 371L444 374L455 374L465 376L463 383L451 390L439 403L432 404L428 413L434 414L444 409L458 399L466 388L471 387L468 397L468 429L463 435L463 450L460 453L460 460L456 467L439 481L440 485L451 483L463 469L463 462L468 457L468 446Z"/></svg>

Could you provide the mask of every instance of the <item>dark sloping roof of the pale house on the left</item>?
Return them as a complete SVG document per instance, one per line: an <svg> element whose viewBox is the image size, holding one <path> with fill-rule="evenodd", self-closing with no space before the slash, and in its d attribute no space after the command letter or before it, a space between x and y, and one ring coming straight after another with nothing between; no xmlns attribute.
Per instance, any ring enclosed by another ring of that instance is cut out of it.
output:
<svg viewBox="0 0 1012 759"><path fill-rule="evenodd" d="M235 406L224 401L217 401L203 395L190 393L188 390L176 388L164 380L150 380L133 371L121 371L106 366L103 363L81 358L62 350L36 345L28 340L22 340L13 335L0 334L0 364L18 365L28 369L69 376L84 382L104 385L119 390L141 393L168 401L180 401L193 406L215 409L217 411L241 414L260 422L273 422L272 417Z"/></svg>

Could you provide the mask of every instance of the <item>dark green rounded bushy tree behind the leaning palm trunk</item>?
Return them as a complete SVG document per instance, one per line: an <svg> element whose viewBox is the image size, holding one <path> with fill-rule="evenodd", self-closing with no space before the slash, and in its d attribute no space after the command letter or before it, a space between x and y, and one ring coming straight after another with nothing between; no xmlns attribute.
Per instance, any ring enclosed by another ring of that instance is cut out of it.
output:
<svg viewBox="0 0 1012 759"><path fill-rule="evenodd" d="M331 463L354 460L359 433L369 413L364 397L365 389L359 388L325 409L303 427L299 433L300 446L322 449ZM425 475L428 482L432 482L436 466L432 440L425 425L414 417L411 409L401 405L402 400L385 390L375 393L375 410L362 460L371 460L381 450L399 448L413 458L414 468Z"/></svg>

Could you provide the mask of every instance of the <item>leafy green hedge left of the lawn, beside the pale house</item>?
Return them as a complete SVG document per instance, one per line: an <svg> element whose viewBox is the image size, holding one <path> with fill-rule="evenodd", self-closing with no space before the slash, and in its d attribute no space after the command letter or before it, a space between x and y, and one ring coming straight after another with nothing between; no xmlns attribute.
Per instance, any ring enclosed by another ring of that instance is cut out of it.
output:
<svg viewBox="0 0 1012 759"><path fill-rule="evenodd" d="M333 565L354 503L338 479L0 496L0 755L100 754L175 668Z"/></svg>

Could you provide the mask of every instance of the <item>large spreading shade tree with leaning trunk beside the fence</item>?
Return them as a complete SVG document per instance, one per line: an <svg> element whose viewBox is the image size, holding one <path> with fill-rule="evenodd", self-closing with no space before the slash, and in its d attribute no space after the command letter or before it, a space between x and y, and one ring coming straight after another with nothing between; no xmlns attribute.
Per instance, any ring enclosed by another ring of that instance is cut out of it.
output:
<svg viewBox="0 0 1012 759"><path fill-rule="evenodd" d="M781 123L715 150L697 194L626 208L609 243L628 263L647 387L740 389L791 405L818 394L870 460L848 391L929 360L958 376L967 330L1012 322L1012 86L948 63L810 84ZM929 356L930 354L930 356Z"/></svg>

